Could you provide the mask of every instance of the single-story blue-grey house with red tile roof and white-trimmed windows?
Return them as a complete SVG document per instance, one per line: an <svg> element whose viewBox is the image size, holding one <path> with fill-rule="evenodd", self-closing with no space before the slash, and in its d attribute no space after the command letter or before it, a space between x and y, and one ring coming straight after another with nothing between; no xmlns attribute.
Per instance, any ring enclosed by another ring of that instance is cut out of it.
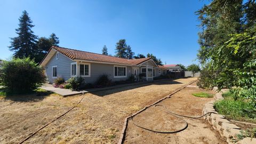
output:
<svg viewBox="0 0 256 144"><path fill-rule="evenodd" d="M137 79L143 74L143 79L153 81L154 77L166 74L166 69L156 65L151 58L123 59L59 46L52 46L40 65L44 67L49 83L57 77L67 81L75 76L94 83L104 74L112 81L126 80L132 74Z"/></svg>

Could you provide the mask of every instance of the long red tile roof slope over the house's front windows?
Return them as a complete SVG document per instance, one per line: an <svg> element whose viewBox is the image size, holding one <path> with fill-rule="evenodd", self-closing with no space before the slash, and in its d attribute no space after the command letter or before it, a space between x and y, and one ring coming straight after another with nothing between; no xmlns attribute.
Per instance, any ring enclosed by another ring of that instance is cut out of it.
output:
<svg viewBox="0 0 256 144"><path fill-rule="evenodd" d="M151 59L151 58L141 58L141 59L129 60L129 59L124 59L124 58L112 57L109 55L102 55L102 54L98 54L98 53L68 49L68 48L59 47L59 46L52 46L51 49L54 49L64 55L66 55L68 58L70 58L72 60L78 59L78 60L121 63L121 64L126 64L126 65L139 65L140 63ZM51 49L50 49L50 51L51 51Z"/></svg>

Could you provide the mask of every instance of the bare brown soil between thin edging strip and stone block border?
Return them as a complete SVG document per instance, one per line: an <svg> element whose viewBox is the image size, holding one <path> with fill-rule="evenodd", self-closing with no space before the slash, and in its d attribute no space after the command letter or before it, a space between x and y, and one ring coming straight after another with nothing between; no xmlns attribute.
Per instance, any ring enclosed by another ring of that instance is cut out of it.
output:
<svg viewBox="0 0 256 144"><path fill-rule="evenodd" d="M195 83L191 84L195 85ZM158 105L164 105L173 113L186 116L201 116L202 109L207 101L213 98L198 98L192 94L197 92L209 92L196 87L186 87L173 94ZM135 126L129 121L126 129L124 143L227 143L226 139L213 130L203 119L184 118L188 122L186 130L174 134L162 134L150 132ZM185 126L180 119L166 114L165 112L152 106L136 115L133 121L141 126L157 131L175 131Z"/></svg>

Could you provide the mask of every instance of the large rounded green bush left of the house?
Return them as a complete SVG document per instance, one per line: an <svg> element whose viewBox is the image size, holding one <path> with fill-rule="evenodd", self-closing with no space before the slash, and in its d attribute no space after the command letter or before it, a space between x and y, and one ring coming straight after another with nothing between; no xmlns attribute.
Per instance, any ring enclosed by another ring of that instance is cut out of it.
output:
<svg viewBox="0 0 256 144"><path fill-rule="evenodd" d="M0 79L9 93L27 93L45 83L42 67L30 58L3 61Z"/></svg>

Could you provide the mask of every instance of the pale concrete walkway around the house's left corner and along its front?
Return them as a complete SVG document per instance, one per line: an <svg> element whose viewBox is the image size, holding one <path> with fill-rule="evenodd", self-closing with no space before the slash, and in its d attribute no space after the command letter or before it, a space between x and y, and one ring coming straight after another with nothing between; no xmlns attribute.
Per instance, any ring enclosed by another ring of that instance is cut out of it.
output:
<svg viewBox="0 0 256 144"><path fill-rule="evenodd" d="M125 86L131 86L131 85L140 85L140 84L148 84L148 83L154 83L154 82L159 82L159 81L172 81L173 79L159 79L155 81L147 81L147 82L137 82L137 83L130 83L130 84L119 84L119 85L114 85L114 86L108 86L108 87L101 87L101 88L94 88L94 89L87 89L86 91L72 91L69 89L60 89L57 87L53 87L51 84L45 84L42 87L40 87L43 90L46 91L52 91L54 93L60 94L63 97L68 97L71 95L77 95L77 94L83 94L83 93L88 93L88 92L95 92L95 91L102 91L102 90L110 90L110 89L116 89L119 87L125 87Z"/></svg>

